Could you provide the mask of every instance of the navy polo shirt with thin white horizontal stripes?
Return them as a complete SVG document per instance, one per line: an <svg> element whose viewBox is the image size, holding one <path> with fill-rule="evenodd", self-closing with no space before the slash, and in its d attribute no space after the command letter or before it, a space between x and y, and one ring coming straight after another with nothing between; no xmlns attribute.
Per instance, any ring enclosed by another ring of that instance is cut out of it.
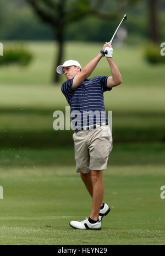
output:
<svg viewBox="0 0 165 256"><path fill-rule="evenodd" d="M71 107L74 132L80 127L108 122L103 92L111 91L107 88L107 76L85 79L76 89L72 89L73 79L62 84L62 92Z"/></svg>

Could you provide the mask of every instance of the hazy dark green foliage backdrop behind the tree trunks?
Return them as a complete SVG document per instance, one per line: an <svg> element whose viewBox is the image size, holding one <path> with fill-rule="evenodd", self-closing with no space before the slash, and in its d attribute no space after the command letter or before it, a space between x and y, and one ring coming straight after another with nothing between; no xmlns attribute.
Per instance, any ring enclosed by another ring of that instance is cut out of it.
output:
<svg viewBox="0 0 165 256"><path fill-rule="evenodd" d="M10 1L10 4L8 4L7 1L4 0L3 5L0 3L3 12L5 10L4 13L0 10L0 14L3 13L0 17L0 41L54 39L56 35L54 35L55 32L50 24L41 22L38 15L35 14L34 10L30 8L27 2L24 1L22 6L19 6L16 2L20 3L20 1ZM55 3L54 0L53 2ZM81 7L81 16L85 15L85 13L87 13L87 10L85 9L85 1L81 1L81 6L79 6L78 3L75 3L75 0L69 0L68 4L65 6L65 10L70 12L70 15L72 14L73 16L73 9L77 10ZM107 4L108 3L111 8L108 6L107 9L114 9L114 7L112 8L114 2L111 1L110 3L110 1L107 1ZM54 10L52 10L52 12L54 12ZM128 31L127 43L141 43L141 41L149 37L148 28L150 24L144 2L128 8L127 10L124 9L122 12L128 14L127 22L122 24ZM77 14L77 12L74 12L75 16L77 16ZM8 19L8 17L10 17L10 19ZM65 16L65 19L68 20L68 16ZM120 18L114 20L106 19L105 17L100 19L95 15L92 17L83 17L83 19L79 19L76 23L67 26L64 39L72 41L105 41L107 40L107 37L111 38L119 20ZM165 35L165 15L163 7L159 10L158 21L160 41L163 42Z"/></svg>

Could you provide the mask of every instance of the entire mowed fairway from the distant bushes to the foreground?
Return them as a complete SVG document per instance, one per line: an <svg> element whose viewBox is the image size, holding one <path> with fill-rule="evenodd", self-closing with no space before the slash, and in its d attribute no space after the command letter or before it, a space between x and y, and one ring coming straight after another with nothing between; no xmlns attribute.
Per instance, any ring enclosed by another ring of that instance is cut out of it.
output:
<svg viewBox="0 0 165 256"><path fill-rule="evenodd" d="M0 69L0 244L165 244L164 66L145 63L140 46L114 47L123 83L104 95L113 111L104 172L111 212L101 231L74 230L69 222L89 217L92 200L75 173L73 131L53 130L53 112L68 106L64 78L51 84L57 45L25 45L30 66ZM65 57L84 67L101 46L68 42ZM95 75L109 75L105 58Z"/></svg>

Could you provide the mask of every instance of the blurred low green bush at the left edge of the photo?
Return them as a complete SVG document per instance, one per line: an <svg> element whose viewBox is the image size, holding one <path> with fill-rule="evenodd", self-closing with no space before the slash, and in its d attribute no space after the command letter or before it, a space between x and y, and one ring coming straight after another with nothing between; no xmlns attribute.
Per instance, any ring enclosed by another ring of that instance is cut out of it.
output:
<svg viewBox="0 0 165 256"><path fill-rule="evenodd" d="M22 46L8 47L3 51L3 57L0 58L0 65L18 64L27 66L32 59L32 54Z"/></svg>

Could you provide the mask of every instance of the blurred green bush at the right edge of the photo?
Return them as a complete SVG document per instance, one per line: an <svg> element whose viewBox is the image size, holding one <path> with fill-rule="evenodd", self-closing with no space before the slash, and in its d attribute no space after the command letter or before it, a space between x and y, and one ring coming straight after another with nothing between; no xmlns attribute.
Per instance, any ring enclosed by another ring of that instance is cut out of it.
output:
<svg viewBox="0 0 165 256"><path fill-rule="evenodd" d="M149 43L145 48L144 56L151 64L165 63L165 56L161 55L160 45Z"/></svg>

